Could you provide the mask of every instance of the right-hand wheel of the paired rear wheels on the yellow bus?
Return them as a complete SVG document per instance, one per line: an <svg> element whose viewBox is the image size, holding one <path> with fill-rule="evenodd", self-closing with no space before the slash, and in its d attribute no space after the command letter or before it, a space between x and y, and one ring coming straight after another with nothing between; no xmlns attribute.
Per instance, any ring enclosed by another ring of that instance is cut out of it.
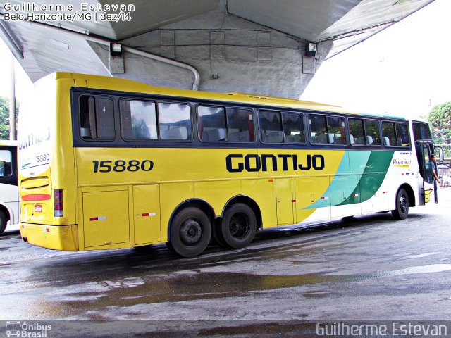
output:
<svg viewBox="0 0 451 338"><path fill-rule="evenodd" d="M257 218L247 204L233 204L224 213L221 232L224 242L234 249L244 248L254 239Z"/></svg>

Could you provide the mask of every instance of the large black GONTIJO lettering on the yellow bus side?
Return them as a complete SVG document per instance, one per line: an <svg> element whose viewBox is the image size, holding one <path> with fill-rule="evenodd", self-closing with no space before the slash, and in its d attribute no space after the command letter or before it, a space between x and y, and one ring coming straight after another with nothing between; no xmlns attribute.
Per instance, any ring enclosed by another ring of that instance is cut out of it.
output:
<svg viewBox="0 0 451 338"><path fill-rule="evenodd" d="M323 170L323 155L307 155L298 158L295 154L230 154L226 157L226 168L229 173L240 173L243 170L254 171L288 171L288 170ZM268 169L269 168L269 169ZM280 169L281 168L281 169ZM290 168L290 169L288 169Z"/></svg>

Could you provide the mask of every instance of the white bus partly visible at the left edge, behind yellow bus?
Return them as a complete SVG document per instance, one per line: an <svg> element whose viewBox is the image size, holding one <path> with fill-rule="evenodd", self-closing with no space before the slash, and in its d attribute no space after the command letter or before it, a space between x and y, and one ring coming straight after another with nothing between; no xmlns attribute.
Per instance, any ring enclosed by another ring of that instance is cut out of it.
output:
<svg viewBox="0 0 451 338"><path fill-rule="evenodd" d="M17 142L0 140L0 234L19 223Z"/></svg>

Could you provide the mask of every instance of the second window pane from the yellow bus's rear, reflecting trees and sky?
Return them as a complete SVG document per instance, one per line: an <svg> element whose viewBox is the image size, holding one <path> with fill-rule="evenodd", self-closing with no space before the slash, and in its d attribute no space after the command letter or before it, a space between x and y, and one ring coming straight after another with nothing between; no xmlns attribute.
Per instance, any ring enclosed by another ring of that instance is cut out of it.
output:
<svg viewBox="0 0 451 338"><path fill-rule="evenodd" d="M158 139L154 102L121 100L120 107L124 139Z"/></svg>

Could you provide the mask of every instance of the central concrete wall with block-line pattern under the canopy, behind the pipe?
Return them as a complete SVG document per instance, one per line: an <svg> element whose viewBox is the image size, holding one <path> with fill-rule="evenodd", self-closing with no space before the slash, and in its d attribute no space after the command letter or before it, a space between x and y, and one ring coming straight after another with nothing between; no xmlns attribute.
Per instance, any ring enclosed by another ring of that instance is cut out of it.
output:
<svg viewBox="0 0 451 338"><path fill-rule="evenodd" d="M319 45L305 56L305 41L223 11L211 11L122 41L127 46L188 63L200 73L199 90L247 92L297 99L332 47ZM91 43L115 77L192 89L194 75L183 68L125 53L111 59Z"/></svg>

